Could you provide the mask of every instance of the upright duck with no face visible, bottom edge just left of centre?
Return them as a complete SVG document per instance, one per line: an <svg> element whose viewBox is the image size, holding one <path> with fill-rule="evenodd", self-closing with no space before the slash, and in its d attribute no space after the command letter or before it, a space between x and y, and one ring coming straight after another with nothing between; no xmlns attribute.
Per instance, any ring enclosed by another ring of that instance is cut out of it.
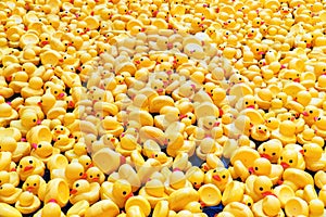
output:
<svg viewBox="0 0 326 217"><path fill-rule="evenodd" d="M139 195L145 196L154 208L158 202L167 199L167 194L164 192L164 183L159 179L152 179L148 181L139 191Z"/></svg>

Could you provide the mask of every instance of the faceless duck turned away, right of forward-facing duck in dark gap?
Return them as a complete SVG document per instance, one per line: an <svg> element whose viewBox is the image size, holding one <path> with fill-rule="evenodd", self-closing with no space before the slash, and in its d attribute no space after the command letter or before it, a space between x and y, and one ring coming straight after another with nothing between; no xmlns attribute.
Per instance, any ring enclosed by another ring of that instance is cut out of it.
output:
<svg viewBox="0 0 326 217"><path fill-rule="evenodd" d="M272 131L271 139L278 139L281 143L296 143L297 137L296 133L296 125L291 120L284 120L279 124L279 128L277 130Z"/></svg>

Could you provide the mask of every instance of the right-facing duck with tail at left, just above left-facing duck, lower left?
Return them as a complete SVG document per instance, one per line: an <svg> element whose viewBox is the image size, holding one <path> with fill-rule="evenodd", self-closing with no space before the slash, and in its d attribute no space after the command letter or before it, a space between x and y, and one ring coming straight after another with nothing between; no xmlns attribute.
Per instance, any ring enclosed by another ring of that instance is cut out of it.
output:
<svg viewBox="0 0 326 217"><path fill-rule="evenodd" d="M73 159L64 168L53 168L50 175L51 179L64 179L70 187L72 187L76 180L86 178L85 169L78 159Z"/></svg>

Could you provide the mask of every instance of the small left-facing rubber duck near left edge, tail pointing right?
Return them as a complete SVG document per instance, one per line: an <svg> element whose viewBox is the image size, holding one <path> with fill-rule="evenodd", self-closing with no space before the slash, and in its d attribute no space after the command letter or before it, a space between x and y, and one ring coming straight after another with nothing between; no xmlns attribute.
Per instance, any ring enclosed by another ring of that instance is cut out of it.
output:
<svg viewBox="0 0 326 217"><path fill-rule="evenodd" d="M50 142L39 142L38 144L33 143L32 144L33 150L30 151L30 156L35 156L42 161L45 164L49 161L49 158L53 154L59 154L60 150L57 148L53 148Z"/></svg>

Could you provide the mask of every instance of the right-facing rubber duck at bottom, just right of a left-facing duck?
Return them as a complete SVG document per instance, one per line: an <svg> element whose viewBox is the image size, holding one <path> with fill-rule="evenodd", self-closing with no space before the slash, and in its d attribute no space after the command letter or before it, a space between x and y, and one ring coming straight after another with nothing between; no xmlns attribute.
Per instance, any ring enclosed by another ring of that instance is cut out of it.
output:
<svg viewBox="0 0 326 217"><path fill-rule="evenodd" d="M100 189L101 200L112 200L120 208L125 207L126 201L133 196L131 186L124 179L114 183L104 181Z"/></svg>

